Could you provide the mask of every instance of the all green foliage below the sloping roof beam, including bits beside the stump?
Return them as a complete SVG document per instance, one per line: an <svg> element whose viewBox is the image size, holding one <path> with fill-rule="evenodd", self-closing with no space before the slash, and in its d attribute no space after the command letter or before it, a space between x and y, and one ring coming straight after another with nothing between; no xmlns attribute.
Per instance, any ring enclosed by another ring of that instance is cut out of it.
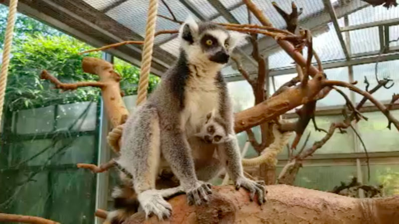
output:
<svg viewBox="0 0 399 224"><path fill-rule="evenodd" d="M0 23L6 23L7 7L0 5ZM0 43L3 44L5 26L0 26ZM82 59L86 56L101 57L101 52L79 55L91 47L23 14L17 15L12 58L8 74L5 106L11 110L45 107L81 101L97 101L100 90L86 87L62 92L53 89L48 81L39 79L40 72L47 70L61 82L96 81L98 77L82 71ZM121 74L121 89L126 95L137 93L140 70L120 59L115 69ZM150 75L151 92L159 78Z"/></svg>

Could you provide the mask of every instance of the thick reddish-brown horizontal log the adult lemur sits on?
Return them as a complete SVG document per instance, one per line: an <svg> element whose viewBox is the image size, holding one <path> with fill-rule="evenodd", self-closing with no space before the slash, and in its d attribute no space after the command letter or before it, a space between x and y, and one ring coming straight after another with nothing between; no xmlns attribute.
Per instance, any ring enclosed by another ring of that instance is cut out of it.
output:
<svg viewBox="0 0 399 224"><path fill-rule="evenodd" d="M169 200L172 217L163 223L233 224L233 223L312 223L312 224L399 224L399 196L356 199L332 193L293 187L268 186L268 201L259 206L249 201L244 189L233 186L213 187L210 202L188 206L186 196ZM155 224L158 218L145 220L143 212L125 224Z"/></svg>

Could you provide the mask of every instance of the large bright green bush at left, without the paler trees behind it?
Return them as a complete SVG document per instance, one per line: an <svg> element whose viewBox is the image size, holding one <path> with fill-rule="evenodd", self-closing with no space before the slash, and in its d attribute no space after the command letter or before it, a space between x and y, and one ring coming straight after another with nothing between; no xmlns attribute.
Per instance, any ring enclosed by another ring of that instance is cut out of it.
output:
<svg viewBox="0 0 399 224"><path fill-rule="evenodd" d="M94 81L97 76L83 73L83 55L78 53L90 47L74 38L62 36L27 36L16 44L10 61L6 89L6 104L9 110L43 107L50 104L65 104L73 101L95 101L100 91L95 88L80 88L61 93L52 84L41 81L39 74L46 69L61 82ZM101 53L88 56L100 57Z"/></svg>

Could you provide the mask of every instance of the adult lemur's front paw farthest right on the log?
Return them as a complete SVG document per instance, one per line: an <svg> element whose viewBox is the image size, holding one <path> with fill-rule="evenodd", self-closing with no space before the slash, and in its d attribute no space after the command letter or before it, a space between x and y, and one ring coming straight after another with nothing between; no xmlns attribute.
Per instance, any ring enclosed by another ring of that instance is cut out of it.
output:
<svg viewBox="0 0 399 224"><path fill-rule="evenodd" d="M253 181L246 177L241 177L235 181L235 190L240 189L240 187L243 187L249 191L251 201L254 200L256 193L258 195L259 205L266 202L267 191L264 181Z"/></svg>

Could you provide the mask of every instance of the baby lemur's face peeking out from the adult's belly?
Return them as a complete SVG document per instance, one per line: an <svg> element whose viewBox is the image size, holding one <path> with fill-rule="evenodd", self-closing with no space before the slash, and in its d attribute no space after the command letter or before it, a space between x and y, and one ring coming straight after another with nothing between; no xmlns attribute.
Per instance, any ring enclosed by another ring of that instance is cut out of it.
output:
<svg viewBox="0 0 399 224"><path fill-rule="evenodd" d="M206 115L206 121L201 126L200 132L197 133L196 136L206 143L212 144L226 142L232 137L227 134L224 121L216 116L214 112L209 112Z"/></svg>

